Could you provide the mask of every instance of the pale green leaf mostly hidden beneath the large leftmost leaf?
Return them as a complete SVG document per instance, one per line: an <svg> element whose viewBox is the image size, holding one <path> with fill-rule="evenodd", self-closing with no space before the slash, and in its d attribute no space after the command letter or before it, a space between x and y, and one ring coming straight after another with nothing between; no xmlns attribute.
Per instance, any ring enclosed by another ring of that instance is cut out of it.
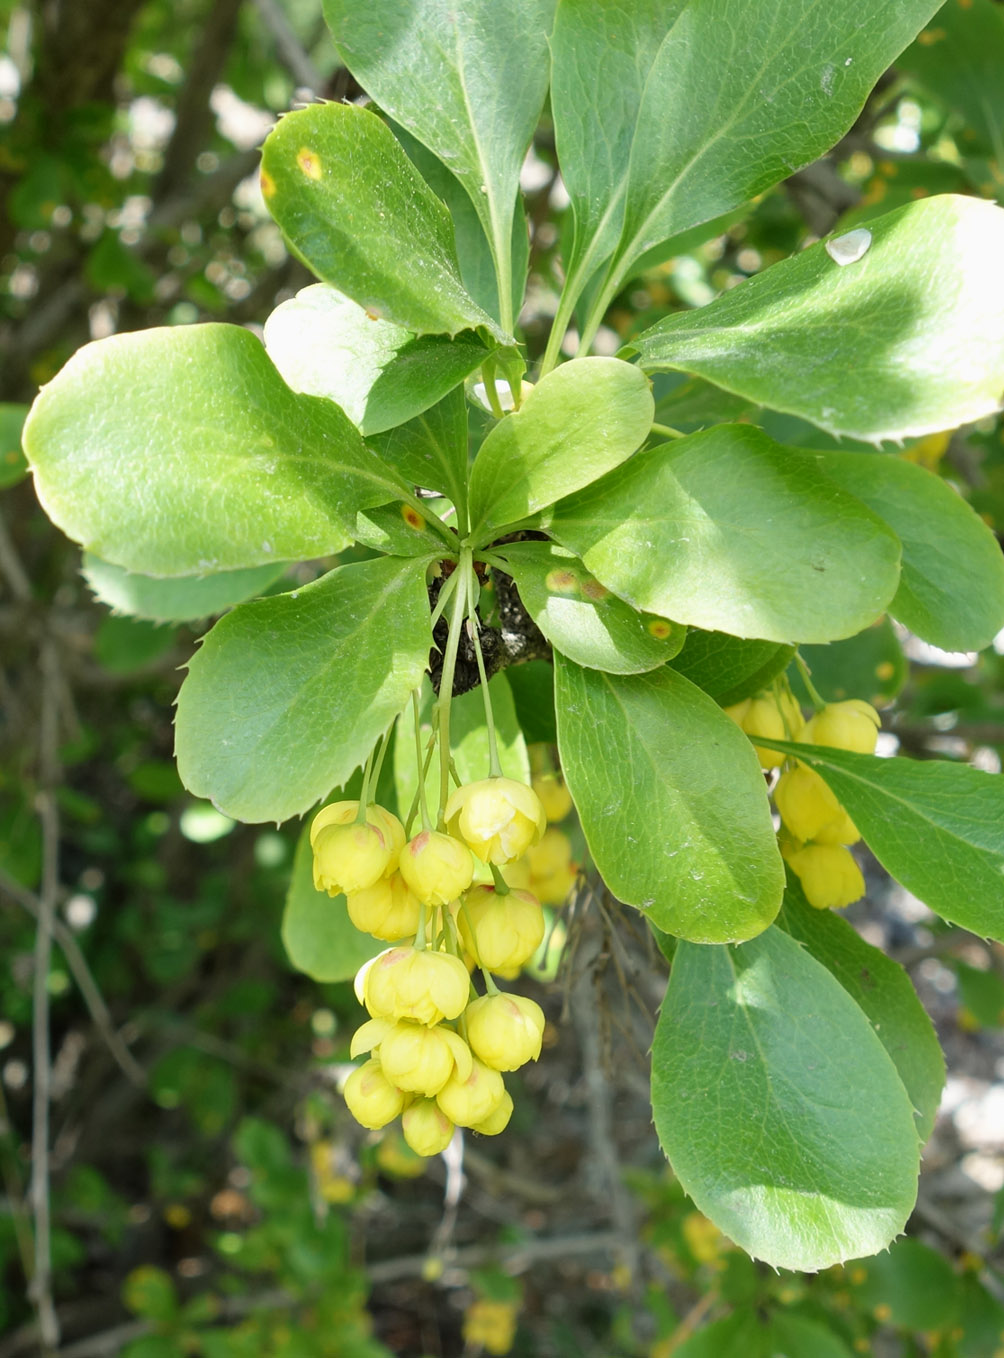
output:
<svg viewBox="0 0 1004 1358"><path fill-rule="evenodd" d="M115 612L152 622L197 622L255 599L285 573L285 562L253 566L249 570L221 570L213 576L156 580L137 576L121 566L84 553L80 573L95 598Z"/></svg>

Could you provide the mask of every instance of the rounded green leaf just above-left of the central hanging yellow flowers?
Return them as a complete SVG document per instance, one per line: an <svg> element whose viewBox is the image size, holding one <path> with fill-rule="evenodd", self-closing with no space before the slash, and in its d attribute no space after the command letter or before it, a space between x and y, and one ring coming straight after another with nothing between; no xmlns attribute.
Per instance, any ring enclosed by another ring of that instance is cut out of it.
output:
<svg viewBox="0 0 1004 1358"><path fill-rule="evenodd" d="M285 820L344 784L421 683L425 565L342 566L221 618L178 695L185 786L236 820Z"/></svg>

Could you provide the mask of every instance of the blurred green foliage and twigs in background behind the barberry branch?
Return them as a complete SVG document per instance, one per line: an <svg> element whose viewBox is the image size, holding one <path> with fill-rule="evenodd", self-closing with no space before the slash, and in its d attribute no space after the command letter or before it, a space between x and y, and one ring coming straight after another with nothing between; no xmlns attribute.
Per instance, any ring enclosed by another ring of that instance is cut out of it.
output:
<svg viewBox="0 0 1004 1358"><path fill-rule="evenodd" d="M19 430L88 340L212 319L258 329L307 284L264 209L257 147L292 105L361 91L319 0L0 0L0 1358L39 1351L31 1021L49 906L41 1290L67 1358L1004 1353L1004 957L874 866L855 922L910 967L952 1073L910 1237L879 1259L777 1275L690 1209L647 1103L666 964L587 876L538 968L545 1054L509 1131L425 1164L395 1133L351 1122L337 1086L356 1001L293 971L280 940L298 827L239 826L185 793L171 703L201 627L94 602L79 551L35 504ZM533 359L567 202L546 121L523 186ZM598 348L838 221L943 191L1004 201L996 0L950 0L830 155L633 280ZM830 445L708 383L659 378L656 394L658 418L682 429L755 418ZM1004 530L1000 421L905 455ZM946 656L883 621L806 649L825 697L895 701L887 739L906 752L1000 770L1004 637ZM546 746L546 667L511 678Z"/></svg>

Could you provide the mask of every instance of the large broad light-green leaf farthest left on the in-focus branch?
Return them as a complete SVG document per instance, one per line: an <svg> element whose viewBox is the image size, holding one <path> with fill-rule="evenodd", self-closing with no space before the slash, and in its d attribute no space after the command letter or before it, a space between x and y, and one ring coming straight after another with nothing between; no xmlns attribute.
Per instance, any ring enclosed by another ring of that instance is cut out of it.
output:
<svg viewBox="0 0 1004 1358"><path fill-rule="evenodd" d="M31 407L24 449L49 517L149 576L323 557L357 509L401 494L342 411L295 395L240 326L84 345Z"/></svg>

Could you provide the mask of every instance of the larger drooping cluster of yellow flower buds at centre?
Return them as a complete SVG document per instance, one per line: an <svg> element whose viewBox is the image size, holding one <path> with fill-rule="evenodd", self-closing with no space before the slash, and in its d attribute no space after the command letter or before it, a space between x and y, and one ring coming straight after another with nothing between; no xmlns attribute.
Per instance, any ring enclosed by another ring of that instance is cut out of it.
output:
<svg viewBox="0 0 1004 1358"><path fill-rule="evenodd" d="M490 975L518 974L539 947L539 900L504 881L473 885L476 858L501 868L541 841L541 801L524 784L485 778L456 789L444 823L406 841L382 807L363 820L357 803L337 803L311 828L318 889L344 891L356 928L397 941L356 976L370 1020L351 1054L370 1059L345 1101L364 1127L401 1115L423 1156L444 1150L458 1126L500 1133L512 1115L503 1071L535 1061L543 1035L539 1005L499 991ZM474 991L465 953L488 994Z"/></svg>

